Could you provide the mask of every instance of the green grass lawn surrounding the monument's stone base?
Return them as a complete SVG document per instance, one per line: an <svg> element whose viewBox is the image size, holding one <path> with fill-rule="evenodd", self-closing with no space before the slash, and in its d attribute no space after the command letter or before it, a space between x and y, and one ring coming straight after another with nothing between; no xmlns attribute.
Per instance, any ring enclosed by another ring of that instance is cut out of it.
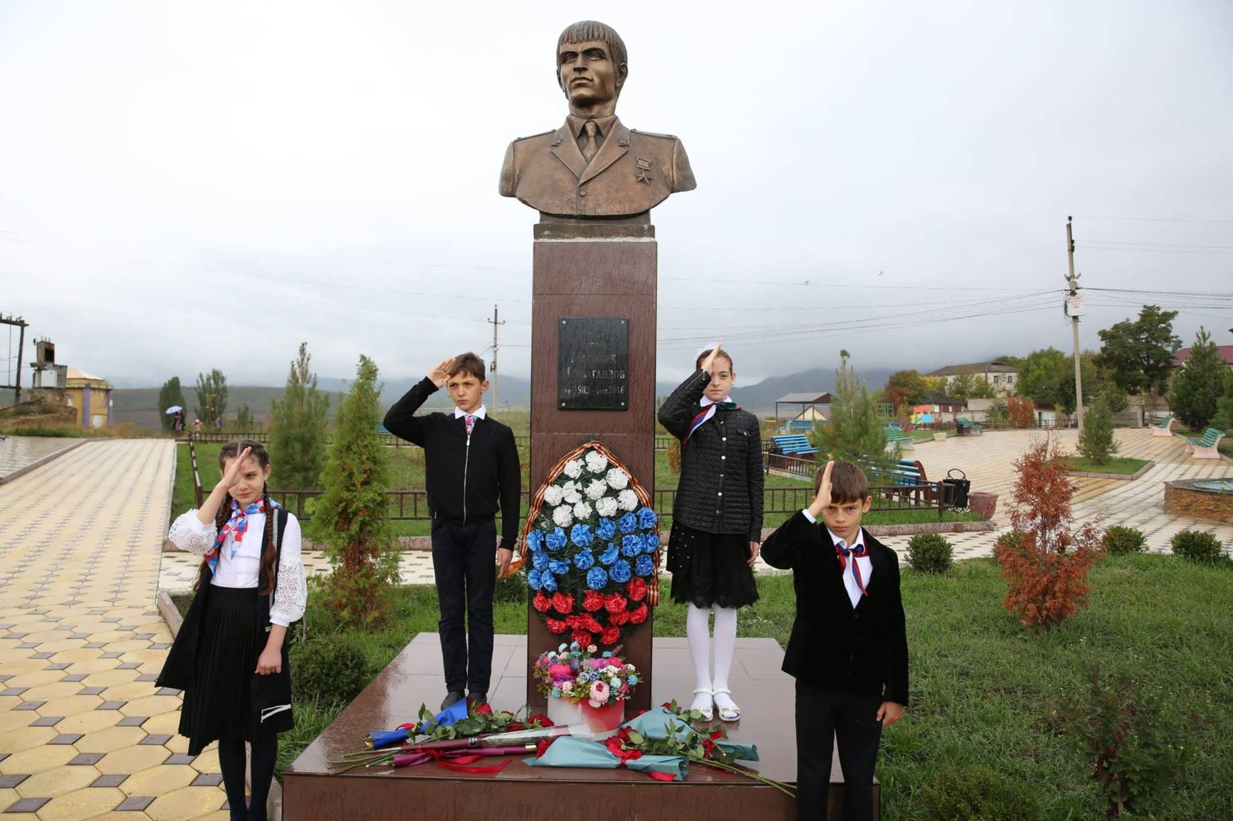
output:
<svg viewBox="0 0 1233 821"><path fill-rule="evenodd" d="M993 560L959 562L946 576L904 570L904 608L911 650L911 704L883 735L877 774L883 817L916 817L920 790L954 767L981 764L1026 784L1042 821L1104 817L1090 764L1071 743L1053 705L1084 685L1084 671L1126 669L1198 711L1195 758L1175 785L1180 821L1229 817L1233 806L1233 573L1173 556L1111 557L1092 573L1091 607L1051 631L1018 625L1001 608L1005 582ZM686 608L672 604L665 579L655 635L684 635ZM780 646L792 629L790 577L760 577L762 598L741 610L742 636L771 636ZM334 627L309 600L309 635ZM525 629L525 604L496 607L499 632ZM429 587L398 590L396 624L359 635L376 674L420 630L435 630ZM684 694L682 694L684 695ZM753 699L757 693L737 694ZM502 704L503 709L519 705ZM407 705L407 715L419 708ZM296 704L297 730L280 745L280 772L337 715L339 708ZM374 727L376 729L376 727ZM363 740L356 738L356 747ZM761 740L763 745L774 738Z"/></svg>

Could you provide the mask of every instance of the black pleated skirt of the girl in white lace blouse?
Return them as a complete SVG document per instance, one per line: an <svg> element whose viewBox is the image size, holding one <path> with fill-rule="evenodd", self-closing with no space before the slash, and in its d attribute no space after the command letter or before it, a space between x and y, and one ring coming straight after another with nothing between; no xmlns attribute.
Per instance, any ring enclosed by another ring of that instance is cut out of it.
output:
<svg viewBox="0 0 1233 821"><path fill-rule="evenodd" d="M256 588L210 588L192 683L184 690L180 735L196 756L212 741L256 741L260 721L249 692L256 668Z"/></svg>

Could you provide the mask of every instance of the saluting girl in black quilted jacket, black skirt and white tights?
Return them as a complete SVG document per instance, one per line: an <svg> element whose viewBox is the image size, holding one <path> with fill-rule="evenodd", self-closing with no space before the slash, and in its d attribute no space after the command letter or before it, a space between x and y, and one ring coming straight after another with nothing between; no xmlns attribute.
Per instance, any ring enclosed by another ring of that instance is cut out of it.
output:
<svg viewBox="0 0 1233 821"><path fill-rule="evenodd" d="M668 537L672 600L689 605L692 709L707 719L718 710L724 721L739 721L741 708L732 700L727 677L736 610L758 600L753 562L762 541L762 441L758 418L729 399L736 372L727 351L719 343L700 350L694 369L660 408L660 424L681 440L681 482Z"/></svg>

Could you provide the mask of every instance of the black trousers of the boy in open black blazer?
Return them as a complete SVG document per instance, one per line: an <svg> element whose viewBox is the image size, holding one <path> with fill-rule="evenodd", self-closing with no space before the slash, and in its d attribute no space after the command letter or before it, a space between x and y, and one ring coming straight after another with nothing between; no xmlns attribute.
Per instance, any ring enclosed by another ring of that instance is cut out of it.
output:
<svg viewBox="0 0 1233 821"><path fill-rule="evenodd" d="M840 748L843 821L873 817L873 764L878 759L880 695L853 695L797 680L797 819L826 821L831 754Z"/></svg>

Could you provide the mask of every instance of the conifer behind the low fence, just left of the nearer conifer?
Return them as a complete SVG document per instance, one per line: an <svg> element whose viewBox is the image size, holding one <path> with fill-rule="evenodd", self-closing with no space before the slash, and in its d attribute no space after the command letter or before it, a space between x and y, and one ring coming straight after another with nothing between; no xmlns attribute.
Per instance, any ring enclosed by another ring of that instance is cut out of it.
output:
<svg viewBox="0 0 1233 821"><path fill-rule="evenodd" d="M326 464L326 433L329 397L317 388L311 370L308 343L300 343L300 355L291 362L282 401L270 403L274 465L270 483L280 491L309 491L321 487Z"/></svg>

